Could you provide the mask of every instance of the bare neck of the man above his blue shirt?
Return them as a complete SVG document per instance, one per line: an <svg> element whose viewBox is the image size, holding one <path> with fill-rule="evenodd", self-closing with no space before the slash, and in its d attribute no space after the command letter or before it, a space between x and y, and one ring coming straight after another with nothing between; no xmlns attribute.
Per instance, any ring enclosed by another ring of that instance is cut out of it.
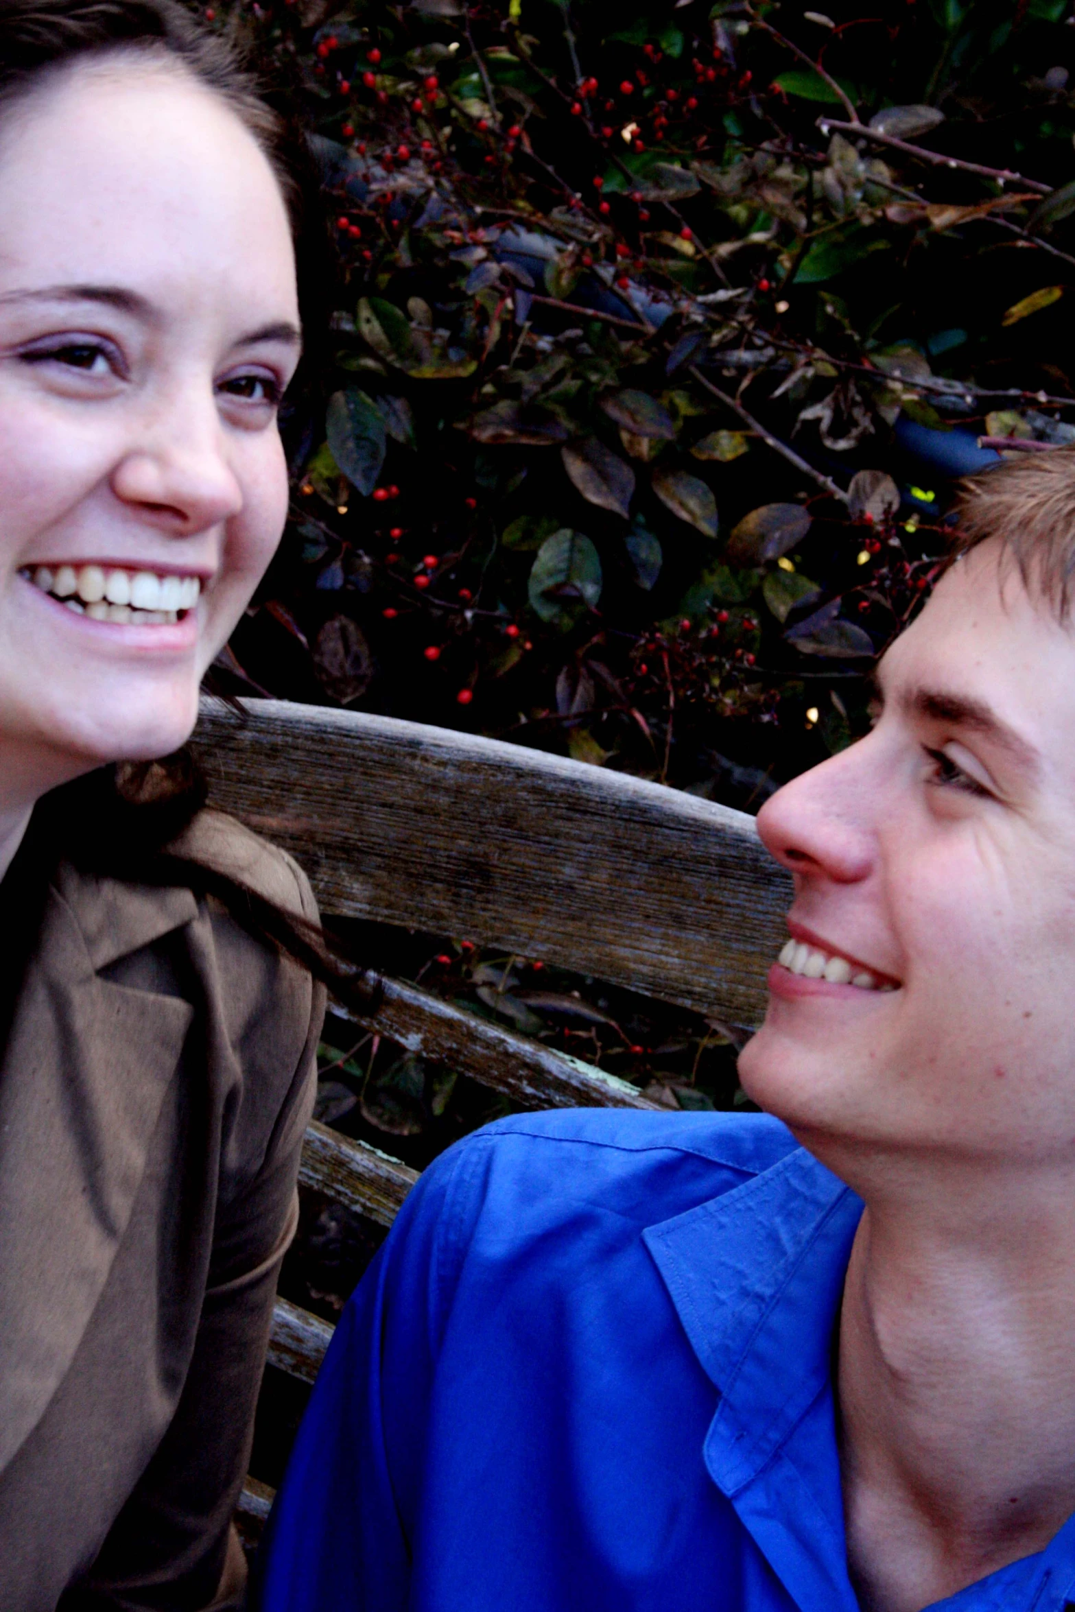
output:
<svg viewBox="0 0 1075 1612"><path fill-rule="evenodd" d="M835 1164L865 1198L840 1320L848 1562L920 1612L1075 1512L1075 1169Z"/></svg>

